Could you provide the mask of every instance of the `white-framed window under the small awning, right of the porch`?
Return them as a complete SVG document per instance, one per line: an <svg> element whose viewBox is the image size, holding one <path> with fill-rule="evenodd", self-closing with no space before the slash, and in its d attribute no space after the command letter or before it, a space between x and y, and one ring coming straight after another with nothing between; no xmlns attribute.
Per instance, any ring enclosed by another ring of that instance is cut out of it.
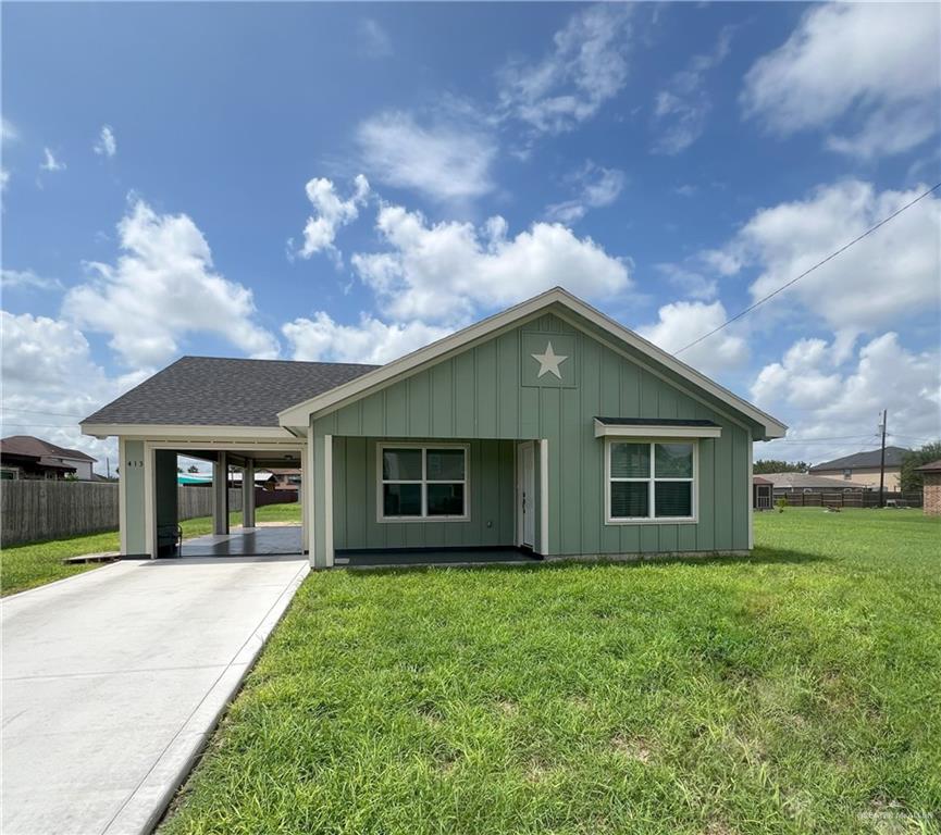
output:
<svg viewBox="0 0 941 835"><path fill-rule="evenodd" d="M605 439L605 523L695 522L698 443Z"/></svg>

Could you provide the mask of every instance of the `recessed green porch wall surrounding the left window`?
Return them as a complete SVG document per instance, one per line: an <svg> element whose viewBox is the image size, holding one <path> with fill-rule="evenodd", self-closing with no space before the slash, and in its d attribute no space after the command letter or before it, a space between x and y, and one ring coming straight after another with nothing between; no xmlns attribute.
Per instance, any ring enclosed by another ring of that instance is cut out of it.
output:
<svg viewBox="0 0 941 835"><path fill-rule="evenodd" d="M513 441L468 441L468 522L379 522L376 445L388 440L375 437L333 439L334 548L513 545Z"/></svg>

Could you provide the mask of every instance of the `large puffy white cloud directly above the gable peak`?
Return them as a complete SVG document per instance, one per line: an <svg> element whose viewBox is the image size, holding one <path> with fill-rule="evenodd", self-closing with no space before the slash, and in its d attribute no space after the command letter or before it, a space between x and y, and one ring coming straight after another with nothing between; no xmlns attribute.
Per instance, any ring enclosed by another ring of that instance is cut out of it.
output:
<svg viewBox="0 0 941 835"><path fill-rule="evenodd" d="M529 298L554 285L610 297L630 286L629 264L560 224L536 223L507 238L507 223L430 224L420 212L383 205L376 228L387 245L357 253L352 265L397 320L462 321L478 309Z"/></svg>

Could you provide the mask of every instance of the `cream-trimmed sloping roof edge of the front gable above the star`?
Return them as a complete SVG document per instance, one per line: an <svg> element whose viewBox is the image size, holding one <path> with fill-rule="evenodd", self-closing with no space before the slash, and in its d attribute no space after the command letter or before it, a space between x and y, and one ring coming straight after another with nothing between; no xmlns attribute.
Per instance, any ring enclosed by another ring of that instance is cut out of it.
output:
<svg viewBox="0 0 941 835"><path fill-rule="evenodd" d="M346 402L358 400L373 390L384 388L400 377L408 376L472 345L492 338L498 332L515 327L543 313L556 311L570 315L573 314L573 317L578 320L582 328L586 329L590 335L594 336L589 327L596 329L606 338L627 345L634 352L642 354L647 361L668 372L677 381L673 382L673 385L678 385L678 383L690 385L698 391L705 392L713 400L732 409L747 422L757 426L757 439L780 438L784 436L788 427L783 423L732 394L729 389L701 374L653 342L647 341L633 331L615 322L600 311L595 310L595 308L572 296L561 287L546 290L532 299L508 308L502 313L488 316L424 348L419 348L417 351L412 351L405 357L362 374L355 379L286 408L278 413L278 422L285 428L300 434L301 432L306 432L310 415L313 413L338 408Z"/></svg>

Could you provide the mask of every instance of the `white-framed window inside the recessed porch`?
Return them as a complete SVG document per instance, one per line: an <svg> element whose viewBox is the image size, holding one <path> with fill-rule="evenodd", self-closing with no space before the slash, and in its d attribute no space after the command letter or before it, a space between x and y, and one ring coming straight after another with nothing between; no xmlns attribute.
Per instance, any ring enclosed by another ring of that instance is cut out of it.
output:
<svg viewBox="0 0 941 835"><path fill-rule="evenodd" d="M467 522L469 459L467 444L377 444L377 521Z"/></svg>

